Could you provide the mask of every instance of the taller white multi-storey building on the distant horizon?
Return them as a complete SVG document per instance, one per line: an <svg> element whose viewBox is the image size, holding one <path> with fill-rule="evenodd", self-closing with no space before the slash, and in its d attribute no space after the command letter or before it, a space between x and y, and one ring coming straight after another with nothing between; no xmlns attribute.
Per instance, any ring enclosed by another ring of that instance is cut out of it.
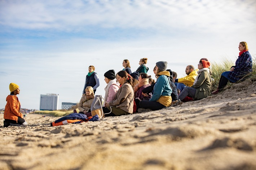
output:
<svg viewBox="0 0 256 170"><path fill-rule="evenodd" d="M59 95L58 94L41 94L40 110L58 110Z"/></svg>

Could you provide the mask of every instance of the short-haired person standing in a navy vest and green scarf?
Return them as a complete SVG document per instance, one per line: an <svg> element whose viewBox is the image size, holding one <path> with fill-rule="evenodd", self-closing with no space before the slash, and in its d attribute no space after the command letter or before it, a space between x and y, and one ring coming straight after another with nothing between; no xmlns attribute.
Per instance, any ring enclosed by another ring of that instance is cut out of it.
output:
<svg viewBox="0 0 256 170"><path fill-rule="evenodd" d="M89 72L86 75L85 78L85 83L84 83L84 89L83 89L83 94L85 94L85 88L87 86L92 86L94 94L96 92L96 89L98 88L98 86L100 86L100 80L99 77L97 75L97 72L94 72L95 67L94 66L89 66Z"/></svg>

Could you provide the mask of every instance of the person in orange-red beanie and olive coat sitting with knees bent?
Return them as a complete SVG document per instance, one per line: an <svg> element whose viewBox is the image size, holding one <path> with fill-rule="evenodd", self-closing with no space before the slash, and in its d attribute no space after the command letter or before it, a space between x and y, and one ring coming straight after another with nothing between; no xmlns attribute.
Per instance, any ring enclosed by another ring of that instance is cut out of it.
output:
<svg viewBox="0 0 256 170"><path fill-rule="evenodd" d="M200 60L198 63L197 72L198 75L195 78L192 87L185 86L185 88L178 95L180 100L185 99L186 96L194 98L194 100L200 100L206 98L211 94L211 76L208 67L210 62L206 60Z"/></svg>

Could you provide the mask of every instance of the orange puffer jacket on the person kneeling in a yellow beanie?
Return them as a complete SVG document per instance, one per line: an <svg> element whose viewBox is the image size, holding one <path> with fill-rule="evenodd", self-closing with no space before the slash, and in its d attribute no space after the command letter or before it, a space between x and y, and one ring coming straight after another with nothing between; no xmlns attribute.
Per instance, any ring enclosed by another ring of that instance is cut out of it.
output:
<svg viewBox="0 0 256 170"><path fill-rule="evenodd" d="M18 117L23 118L23 114L20 112L21 103L19 103L18 97L16 95L8 95L6 101L4 119L15 120L18 122Z"/></svg>

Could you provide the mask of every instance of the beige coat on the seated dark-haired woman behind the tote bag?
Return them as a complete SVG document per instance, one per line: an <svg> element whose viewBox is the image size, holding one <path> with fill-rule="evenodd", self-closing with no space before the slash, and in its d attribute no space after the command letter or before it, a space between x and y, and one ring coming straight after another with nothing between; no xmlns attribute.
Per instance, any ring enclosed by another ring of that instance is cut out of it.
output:
<svg viewBox="0 0 256 170"><path fill-rule="evenodd" d="M116 106L128 113L133 113L133 89L129 83L123 84L116 92L115 99L109 102L110 106Z"/></svg>

